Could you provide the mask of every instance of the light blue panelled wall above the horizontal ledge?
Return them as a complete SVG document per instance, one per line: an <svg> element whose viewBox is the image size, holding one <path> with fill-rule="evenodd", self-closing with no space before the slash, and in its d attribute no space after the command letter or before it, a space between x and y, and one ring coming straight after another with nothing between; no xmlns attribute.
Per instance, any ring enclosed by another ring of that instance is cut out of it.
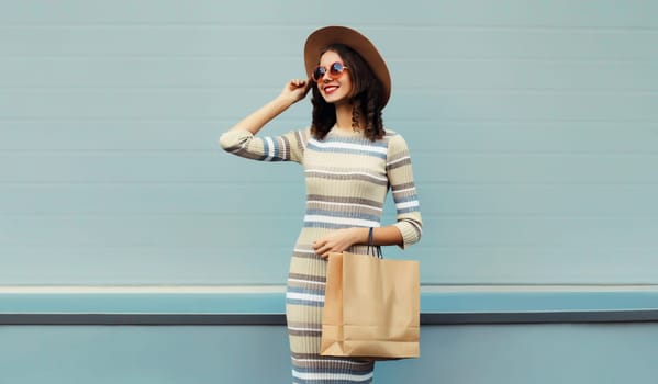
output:
<svg viewBox="0 0 658 384"><path fill-rule="evenodd" d="M301 170L216 138L303 75L328 23L390 64L425 283L658 281L654 2L3 4L3 283L281 283Z"/></svg>

